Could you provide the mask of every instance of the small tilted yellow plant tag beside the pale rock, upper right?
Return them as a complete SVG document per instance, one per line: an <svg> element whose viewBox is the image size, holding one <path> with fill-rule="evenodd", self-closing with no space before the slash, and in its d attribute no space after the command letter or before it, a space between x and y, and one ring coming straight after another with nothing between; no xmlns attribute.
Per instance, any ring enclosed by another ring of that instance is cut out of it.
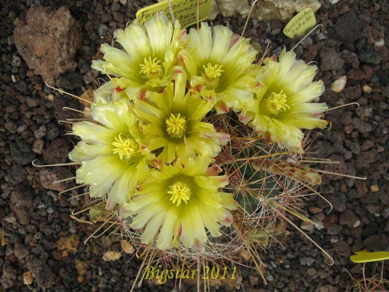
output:
<svg viewBox="0 0 389 292"><path fill-rule="evenodd" d="M283 34L286 37L294 38L295 35L299 37L305 35L309 29L314 27L316 24L315 14L312 8L305 8L299 12L294 18L290 19L283 29Z"/></svg>

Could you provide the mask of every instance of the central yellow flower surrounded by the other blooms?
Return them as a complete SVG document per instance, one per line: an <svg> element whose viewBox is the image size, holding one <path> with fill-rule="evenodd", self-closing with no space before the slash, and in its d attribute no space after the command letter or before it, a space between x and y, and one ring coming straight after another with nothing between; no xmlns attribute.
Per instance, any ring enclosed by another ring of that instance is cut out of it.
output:
<svg viewBox="0 0 389 292"><path fill-rule="evenodd" d="M230 140L228 134L202 122L212 104L186 93L185 73L178 74L162 93L149 91L146 98L134 100L134 104L145 136L143 143L150 151L159 149L157 167L176 158L186 164L196 154L215 157Z"/></svg>

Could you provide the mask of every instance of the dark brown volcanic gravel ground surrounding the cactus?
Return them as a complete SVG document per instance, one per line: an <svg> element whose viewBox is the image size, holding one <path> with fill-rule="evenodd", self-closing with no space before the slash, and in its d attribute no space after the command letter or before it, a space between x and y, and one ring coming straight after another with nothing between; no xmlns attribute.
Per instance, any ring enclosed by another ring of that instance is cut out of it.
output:
<svg viewBox="0 0 389 292"><path fill-rule="evenodd" d="M0 291L129 291L141 264L122 252L116 261L103 260L108 250L121 252L120 242L99 237L83 242L93 227L71 219L74 208L84 199L69 200L77 191L58 196L76 186L58 178L71 177L72 166L36 168L34 159L45 164L64 163L72 147L69 131L57 123L71 117L64 106L81 108L69 96L60 96L35 75L18 54L14 29L26 18L31 6L66 5L79 23L82 45L75 55L74 70L56 78L56 86L83 94L94 88L96 74L90 70L92 59L100 58L99 45L112 40L113 32L146 5L144 0L11 0L0 3ZM151 2L151 1L150 1ZM333 266L320 250L292 227L280 246L271 247L263 260L268 263L264 286L254 270L242 270L240 291L344 291L350 278L343 268L361 277L361 266L349 256L360 249L388 250L389 196L389 4L387 0L340 0L336 4L320 0L316 13L324 30L307 37L296 48L299 58L316 61L318 77L326 83L322 101L330 107L357 102L327 112L330 131L322 131L317 156L339 161L325 170L366 176L365 181L325 175L320 192L334 209L318 196L306 204L307 215L318 228L307 232L335 260ZM150 4L150 3L147 3ZM214 24L227 21L240 34L244 18L218 16ZM282 45L291 49L296 40L286 38L278 20L251 20L246 37L261 44L270 40L273 53ZM55 45L55 37L47 46ZM45 44L46 45L46 44ZM71 48L69 48L70 50ZM74 48L73 48L74 49ZM331 91L331 84L346 75L343 91ZM368 86L369 88L367 88ZM369 92L370 91L370 92ZM53 98L55 96L55 98ZM80 191L81 192L81 191ZM87 219L86 216L81 219ZM299 226L301 222L295 221ZM369 274L374 264L367 266ZM387 275L388 277L388 275ZM243 290L244 289L244 290ZM171 285L143 283L137 291L171 291ZM195 285L181 291L195 291ZM212 291L235 291L233 285L212 286Z"/></svg>

